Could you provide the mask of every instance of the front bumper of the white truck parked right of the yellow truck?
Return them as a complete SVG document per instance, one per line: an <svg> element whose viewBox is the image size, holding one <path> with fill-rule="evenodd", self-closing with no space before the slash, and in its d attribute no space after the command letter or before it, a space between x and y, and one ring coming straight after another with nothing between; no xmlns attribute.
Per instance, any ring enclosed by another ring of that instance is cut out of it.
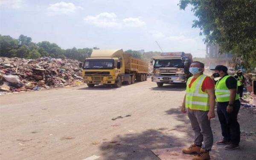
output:
<svg viewBox="0 0 256 160"><path fill-rule="evenodd" d="M151 81L162 83L186 83L184 77L178 76L151 76Z"/></svg>

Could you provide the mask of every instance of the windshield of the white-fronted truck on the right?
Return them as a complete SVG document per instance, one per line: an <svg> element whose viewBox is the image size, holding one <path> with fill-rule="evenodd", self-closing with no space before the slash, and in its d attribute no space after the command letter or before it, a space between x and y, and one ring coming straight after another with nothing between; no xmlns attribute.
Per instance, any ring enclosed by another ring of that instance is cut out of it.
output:
<svg viewBox="0 0 256 160"><path fill-rule="evenodd" d="M156 60L154 68L159 67L177 67L184 68L184 64L181 59L169 59L169 60Z"/></svg>

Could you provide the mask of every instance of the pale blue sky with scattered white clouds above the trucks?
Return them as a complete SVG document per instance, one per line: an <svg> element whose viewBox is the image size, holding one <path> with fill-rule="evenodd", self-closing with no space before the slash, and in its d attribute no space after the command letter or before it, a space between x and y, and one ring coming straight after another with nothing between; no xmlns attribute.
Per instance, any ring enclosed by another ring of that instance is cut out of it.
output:
<svg viewBox="0 0 256 160"><path fill-rule="evenodd" d="M179 0L0 0L0 34L72 47L191 52L205 57L195 16Z"/></svg>

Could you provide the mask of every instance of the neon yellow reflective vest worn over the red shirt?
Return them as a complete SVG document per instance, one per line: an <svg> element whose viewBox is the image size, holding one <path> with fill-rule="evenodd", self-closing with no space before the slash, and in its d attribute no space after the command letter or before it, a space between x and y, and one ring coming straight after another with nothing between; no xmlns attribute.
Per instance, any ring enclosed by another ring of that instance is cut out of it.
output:
<svg viewBox="0 0 256 160"><path fill-rule="evenodd" d="M202 84L206 75L199 76L189 88L189 84L192 80L190 77L186 86L186 108L193 110L209 111L209 96L202 91Z"/></svg>

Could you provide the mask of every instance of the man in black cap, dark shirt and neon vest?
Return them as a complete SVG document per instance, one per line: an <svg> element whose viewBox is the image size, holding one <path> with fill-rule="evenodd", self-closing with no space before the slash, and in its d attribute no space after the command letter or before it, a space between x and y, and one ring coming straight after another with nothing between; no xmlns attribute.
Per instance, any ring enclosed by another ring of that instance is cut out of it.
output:
<svg viewBox="0 0 256 160"><path fill-rule="evenodd" d="M240 125L237 115L240 109L239 95L237 94L237 80L227 74L227 67L218 65L215 73L211 76L221 77L215 85L215 96L217 103L217 114L221 124L222 140L216 143L224 145L224 149L233 150L239 148Z"/></svg>

